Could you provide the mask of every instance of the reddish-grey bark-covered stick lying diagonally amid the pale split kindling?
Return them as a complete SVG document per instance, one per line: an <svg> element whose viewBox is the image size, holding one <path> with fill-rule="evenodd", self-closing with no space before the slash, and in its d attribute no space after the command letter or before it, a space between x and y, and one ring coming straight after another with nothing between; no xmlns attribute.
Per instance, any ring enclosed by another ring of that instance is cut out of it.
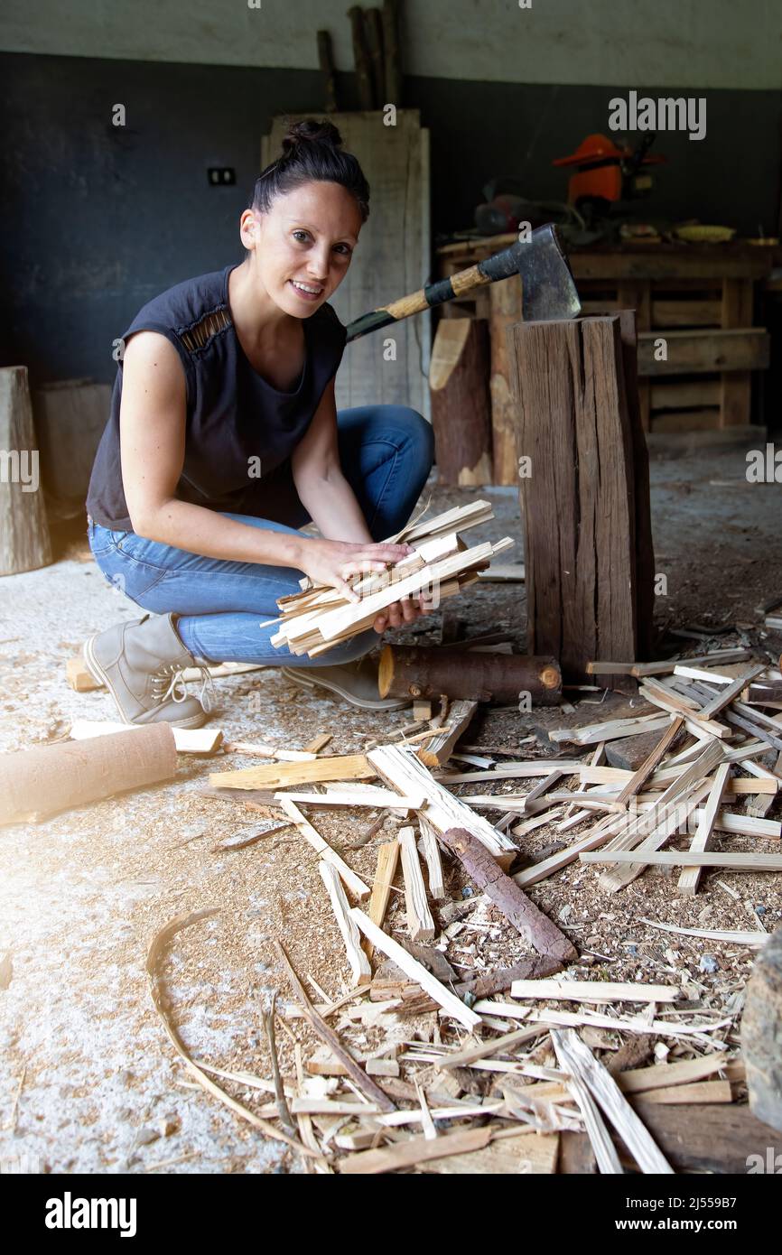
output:
<svg viewBox="0 0 782 1255"><path fill-rule="evenodd" d="M466 828L448 828L441 840L457 855L478 889L486 891L486 896L497 910L502 911L506 920L535 946L538 954L560 959L562 963L576 958L577 951L572 943L530 901L518 885L505 875L472 833Z"/></svg>

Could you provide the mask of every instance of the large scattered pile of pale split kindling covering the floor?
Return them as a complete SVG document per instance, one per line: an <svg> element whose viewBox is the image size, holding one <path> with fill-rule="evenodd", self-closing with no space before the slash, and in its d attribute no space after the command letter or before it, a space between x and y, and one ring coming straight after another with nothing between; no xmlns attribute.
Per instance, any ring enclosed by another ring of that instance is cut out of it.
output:
<svg viewBox="0 0 782 1255"><path fill-rule="evenodd" d="M566 914L551 919L527 894L576 860L606 904L660 863L674 868L679 895L695 895L708 867L728 881L782 870L782 825L767 818L782 778L778 671L741 650L630 669L641 673L638 714L550 730L555 757L500 762L481 745L457 748L476 704L453 703L431 724L419 709L424 719L400 739L364 754L211 777L221 791L256 791L315 851L344 945L348 989L329 1001L305 990L279 944L287 986L277 1018L289 1029L304 1018L320 1044L305 1058L297 1040L297 1079L282 1081L275 1063L272 1078L256 1078L267 1101L244 1108L295 1146L308 1171L746 1171L742 1157L766 1126L737 1102L743 990L702 999L672 966L654 984L585 980ZM606 763L613 744L630 766ZM400 821L378 846L372 884L318 831L323 808L345 807ZM541 823L579 832L530 863L523 838ZM734 836L752 848L733 852ZM468 896L454 899L446 886L457 868ZM389 922L394 894L404 896L403 929L399 915ZM728 946L767 940L758 930L659 927ZM491 961L502 929L526 951L510 965ZM463 964L459 934L471 943ZM151 975L156 988L154 964ZM207 1088L215 1094L212 1079Z"/></svg>

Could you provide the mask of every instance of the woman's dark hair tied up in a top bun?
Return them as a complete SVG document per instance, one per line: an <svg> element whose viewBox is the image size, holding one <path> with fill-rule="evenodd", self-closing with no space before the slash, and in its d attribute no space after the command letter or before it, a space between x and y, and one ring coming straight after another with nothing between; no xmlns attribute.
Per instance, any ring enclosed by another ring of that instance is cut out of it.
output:
<svg viewBox="0 0 782 1255"><path fill-rule="evenodd" d="M353 156L341 151L341 136L331 122L306 118L294 122L282 139L282 156L255 181L250 208L267 213L277 196L303 183L340 183L354 197L362 222L369 217L369 183Z"/></svg>

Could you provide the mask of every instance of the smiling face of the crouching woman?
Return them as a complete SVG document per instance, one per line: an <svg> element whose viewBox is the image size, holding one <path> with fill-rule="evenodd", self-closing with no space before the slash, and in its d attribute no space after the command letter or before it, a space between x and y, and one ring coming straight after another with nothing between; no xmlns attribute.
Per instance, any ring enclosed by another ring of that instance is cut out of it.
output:
<svg viewBox="0 0 782 1255"><path fill-rule="evenodd" d="M310 318L345 277L362 215L341 184L313 182L277 196L269 213L247 210L241 227L251 269L274 302Z"/></svg>

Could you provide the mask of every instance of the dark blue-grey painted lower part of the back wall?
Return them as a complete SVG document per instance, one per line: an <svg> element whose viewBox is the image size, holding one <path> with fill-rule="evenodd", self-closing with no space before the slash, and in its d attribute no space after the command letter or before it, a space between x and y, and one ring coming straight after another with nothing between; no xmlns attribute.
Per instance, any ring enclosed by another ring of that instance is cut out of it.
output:
<svg viewBox="0 0 782 1255"><path fill-rule="evenodd" d="M237 221L261 136L274 114L318 112L323 100L321 77L309 70L0 54L0 282L9 305L0 364L26 364L34 383L110 382L112 340L144 301L241 260ZM340 105L356 108L353 77L338 75L338 87ZM432 132L433 230L469 227L496 174L523 177L531 197L564 200L567 176L551 159L605 131L608 102L621 94L407 79L404 104L419 108ZM649 212L774 231L779 93L700 94L707 138L658 137L669 164ZM127 109L124 128L112 125L117 103ZM235 167L236 187L210 187L208 166Z"/></svg>

